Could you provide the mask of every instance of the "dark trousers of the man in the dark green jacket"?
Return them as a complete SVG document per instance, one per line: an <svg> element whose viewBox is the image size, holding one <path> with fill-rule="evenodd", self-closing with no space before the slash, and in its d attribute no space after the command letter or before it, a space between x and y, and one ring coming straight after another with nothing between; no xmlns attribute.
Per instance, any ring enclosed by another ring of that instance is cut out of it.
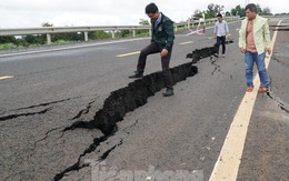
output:
<svg viewBox="0 0 289 181"><path fill-rule="evenodd" d="M155 42L151 42L148 47L142 49L140 51L140 54L139 54L139 61L138 61L137 71L138 72L143 72L144 68L146 68L147 57L149 54L161 52L161 50L162 50L162 48L159 47ZM171 50L169 50L169 53L167 56L161 57L162 74L165 77L165 86L167 88L172 88L173 87L173 81L172 81L170 69L169 69L170 58L171 58Z"/></svg>

